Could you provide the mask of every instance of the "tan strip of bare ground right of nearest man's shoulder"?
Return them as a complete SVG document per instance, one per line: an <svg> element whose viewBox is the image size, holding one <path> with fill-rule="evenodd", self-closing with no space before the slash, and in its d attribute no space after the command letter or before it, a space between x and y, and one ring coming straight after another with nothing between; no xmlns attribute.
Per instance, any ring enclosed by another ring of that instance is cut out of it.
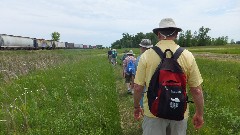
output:
<svg viewBox="0 0 240 135"><path fill-rule="evenodd" d="M240 55L237 55L237 54L193 53L193 55L196 58L240 62Z"/></svg>

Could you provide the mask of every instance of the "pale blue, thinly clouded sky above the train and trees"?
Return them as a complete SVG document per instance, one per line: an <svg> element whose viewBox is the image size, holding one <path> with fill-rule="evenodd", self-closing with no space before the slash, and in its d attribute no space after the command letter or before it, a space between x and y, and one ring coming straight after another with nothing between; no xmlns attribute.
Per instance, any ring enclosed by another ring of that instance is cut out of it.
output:
<svg viewBox="0 0 240 135"><path fill-rule="evenodd" d="M173 18L184 31L210 28L209 36L240 41L239 0L0 0L0 34L79 44L111 43L122 33L135 35Z"/></svg>

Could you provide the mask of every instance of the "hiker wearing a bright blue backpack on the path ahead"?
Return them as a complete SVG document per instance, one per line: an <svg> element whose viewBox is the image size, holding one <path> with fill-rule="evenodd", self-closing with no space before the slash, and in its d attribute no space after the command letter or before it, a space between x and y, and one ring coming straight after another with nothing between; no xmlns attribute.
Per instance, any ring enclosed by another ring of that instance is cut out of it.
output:
<svg viewBox="0 0 240 135"><path fill-rule="evenodd" d="M127 92L133 94L134 76L136 72L136 58L134 57L133 51L130 50L127 53L127 57L123 60L123 77L127 86Z"/></svg>

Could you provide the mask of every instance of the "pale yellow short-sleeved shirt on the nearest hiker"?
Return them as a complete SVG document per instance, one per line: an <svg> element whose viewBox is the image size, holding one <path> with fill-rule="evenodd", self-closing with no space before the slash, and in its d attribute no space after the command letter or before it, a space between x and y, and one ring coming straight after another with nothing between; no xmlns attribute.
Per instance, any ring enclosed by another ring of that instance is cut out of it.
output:
<svg viewBox="0 0 240 135"><path fill-rule="evenodd" d="M170 49L173 53L175 53L175 51L179 48L179 45L177 45L173 40L159 41L156 46L160 47L162 52L164 52L166 49ZM139 60L134 83L141 86L146 85L148 88L152 75L159 65L160 60L161 58L153 49L146 50L141 55L141 58ZM203 82L197 63L191 52L185 49L177 61L187 76L187 84L189 87L197 87ZM144 115L148 117L155 117L149 111L147 93L144 94L143 106ZM188 117L188 113L189 107L187 107L184 118Z"/></svg>

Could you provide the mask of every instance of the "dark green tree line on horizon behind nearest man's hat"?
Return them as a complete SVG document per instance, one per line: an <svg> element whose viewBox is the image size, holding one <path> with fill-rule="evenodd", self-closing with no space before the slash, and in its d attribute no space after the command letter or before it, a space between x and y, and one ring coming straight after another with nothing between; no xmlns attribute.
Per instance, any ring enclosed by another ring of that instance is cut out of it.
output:
<svg viewBox="0 0 240 135"><path fill-rule="evenodd" d="M218 46L228 44L228 36L221 36L218 38L212 38L208 35L210 28L204 28L203 26L199 28L198 32L194 33L191 30L186 32L182 31L178 34L176 43L182 47L191 47L191 46ZM158 37L152 33L137 33L136 35L130 35L128 33L123 33L120 40L115 41L111 44L111 48L121 49L121 48L138 48L139 43L143 38L150 39L152 44L155 45L158 42ZM234 40L231 40L231 44L235 44ZM236 44L240 44L240 41L237 41Z"/></svg>

